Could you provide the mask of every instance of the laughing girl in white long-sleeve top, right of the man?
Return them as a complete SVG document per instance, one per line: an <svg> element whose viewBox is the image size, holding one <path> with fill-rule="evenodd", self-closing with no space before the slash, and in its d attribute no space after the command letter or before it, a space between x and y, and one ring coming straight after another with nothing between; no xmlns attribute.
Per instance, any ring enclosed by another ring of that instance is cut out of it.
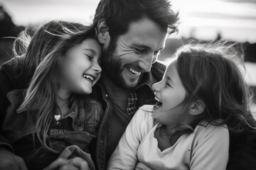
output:
<svg viewBox="0 0 256 170"><path fill-rule="evenodd" d="M153 85L158 102L139 108L107 169L225 169L228 130L255 130L234 47L181 47Z"/></svg>

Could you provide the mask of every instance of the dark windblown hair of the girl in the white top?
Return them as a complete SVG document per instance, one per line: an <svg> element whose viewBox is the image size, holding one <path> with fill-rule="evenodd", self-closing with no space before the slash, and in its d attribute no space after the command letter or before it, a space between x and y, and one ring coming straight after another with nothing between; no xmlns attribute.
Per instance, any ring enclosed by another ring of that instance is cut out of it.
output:
<svg viewBox="0 0 256 170"><path fill-rule="evenodd" d="M230 130L255 131L252 103L245 82L242 47L225 40L189 43L176 52L176 67L188 93L186 101L197 99L206 104L203 119L215 125L227 124Z"/></svg>

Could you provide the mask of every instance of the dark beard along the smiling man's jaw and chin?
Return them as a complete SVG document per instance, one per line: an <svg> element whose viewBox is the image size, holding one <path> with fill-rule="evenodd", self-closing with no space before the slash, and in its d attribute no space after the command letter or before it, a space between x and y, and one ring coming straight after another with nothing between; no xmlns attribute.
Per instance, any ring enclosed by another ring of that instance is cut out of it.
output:
<svg viewBox="0 0 256 170"><path fill-rule="evenodd" d="M116 56L116 40L110 40L110 45L102 52L102 74L110 79L116 86L122 89L134 89L137 84L140 84L143 73L140 75L137 84L127 84L127 81L122 77L122 61Z"/></svg>

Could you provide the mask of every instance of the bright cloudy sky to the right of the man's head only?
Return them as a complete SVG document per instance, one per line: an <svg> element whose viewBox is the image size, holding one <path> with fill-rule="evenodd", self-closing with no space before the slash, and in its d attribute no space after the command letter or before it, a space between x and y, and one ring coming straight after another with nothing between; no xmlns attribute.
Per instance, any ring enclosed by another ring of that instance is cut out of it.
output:
<svg viewBox="0 0 256 170"><path fill-rule="evenodd" d="M256 42L256 0L176 0L182 35Z"/></svg>

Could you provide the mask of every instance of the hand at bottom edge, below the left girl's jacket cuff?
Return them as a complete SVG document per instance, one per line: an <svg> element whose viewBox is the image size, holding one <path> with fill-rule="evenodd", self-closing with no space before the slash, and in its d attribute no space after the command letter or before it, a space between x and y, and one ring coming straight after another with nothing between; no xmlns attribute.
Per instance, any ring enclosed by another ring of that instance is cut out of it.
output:
<svg viewBox="0 0 256 170"><path fill-rule="evenodd" d="M75 157L72 159L58 158L43 170L90 170L87 162L80 158Z"/></svg>

